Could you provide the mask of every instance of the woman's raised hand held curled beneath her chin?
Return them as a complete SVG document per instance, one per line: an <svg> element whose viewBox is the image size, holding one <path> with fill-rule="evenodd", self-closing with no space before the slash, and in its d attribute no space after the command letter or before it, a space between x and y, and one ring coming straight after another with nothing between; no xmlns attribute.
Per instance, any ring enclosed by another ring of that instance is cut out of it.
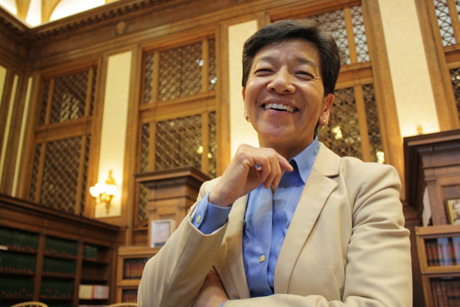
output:
<svg viewBox="0 0 460 307"><path fill-rule="evenodd" d="M208 201L228 207L262 183L266 189L276 189L284 171L292 170L289 162L274 149L242 144L218 185L210 192Z"/></svg>

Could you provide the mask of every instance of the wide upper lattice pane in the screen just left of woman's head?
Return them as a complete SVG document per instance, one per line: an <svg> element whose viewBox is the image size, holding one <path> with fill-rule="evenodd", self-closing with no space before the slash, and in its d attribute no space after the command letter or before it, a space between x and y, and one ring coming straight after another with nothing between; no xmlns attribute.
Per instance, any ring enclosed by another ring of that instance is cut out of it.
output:
<svg viewBox="0 0 460 307"><path fill-rule="evenodd" d="M201 42L160 52L158 100L200 93L201 58Z"/></svg>

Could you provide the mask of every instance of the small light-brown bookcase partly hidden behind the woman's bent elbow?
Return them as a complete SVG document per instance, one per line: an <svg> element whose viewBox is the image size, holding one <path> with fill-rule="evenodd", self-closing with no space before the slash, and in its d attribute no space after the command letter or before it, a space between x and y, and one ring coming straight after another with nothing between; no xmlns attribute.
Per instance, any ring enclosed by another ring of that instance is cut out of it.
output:
<svg viewBox="0 0 460 307"><path fill-rule="evenodd" d="M159 250L160 247L118 247L116 302L137 302L137 288L145 263Z"/></svg>

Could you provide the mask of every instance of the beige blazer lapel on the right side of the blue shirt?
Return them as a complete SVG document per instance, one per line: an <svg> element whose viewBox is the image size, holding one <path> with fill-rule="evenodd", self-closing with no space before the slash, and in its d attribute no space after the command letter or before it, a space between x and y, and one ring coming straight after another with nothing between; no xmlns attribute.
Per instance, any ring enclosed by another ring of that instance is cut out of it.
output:
<svg viewBox="0 0 460 307"><path fill-rule="evenodd" d="M329 195L338 186L329 176L338 175L339 165L340 157L321 144L281 247L275 268L275 293L288 293L296 260Z"/></svg>

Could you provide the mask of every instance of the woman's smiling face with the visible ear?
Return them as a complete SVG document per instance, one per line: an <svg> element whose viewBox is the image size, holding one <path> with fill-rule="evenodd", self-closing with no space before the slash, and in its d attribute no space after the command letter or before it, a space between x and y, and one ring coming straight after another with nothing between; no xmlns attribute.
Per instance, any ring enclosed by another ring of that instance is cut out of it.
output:
<svg viewBox="0 0 460 307"><path fill-rule="evenodd" d="M313 141L317 123L328 123L334 102L334 95L324 96L318 49L300 39L260 49L242 94L260 147L288 159Z"/></svg>

